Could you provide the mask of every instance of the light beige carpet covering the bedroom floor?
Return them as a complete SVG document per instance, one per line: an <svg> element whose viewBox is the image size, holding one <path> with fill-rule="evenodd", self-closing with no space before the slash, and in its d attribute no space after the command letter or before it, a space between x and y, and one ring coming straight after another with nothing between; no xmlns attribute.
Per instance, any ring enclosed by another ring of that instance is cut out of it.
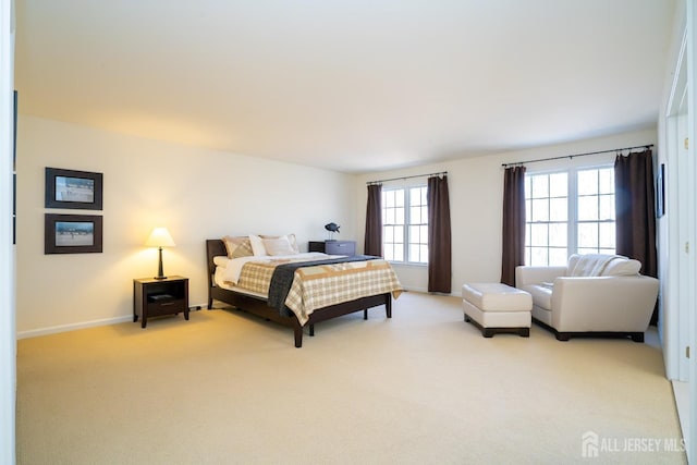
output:
<svg viewBox="0 0 697 465"><path fill-rule="evenodd" d="M234 309L21 340L17 463L686 463L655 333L485 339L409 292L303 345Z"/></svg>

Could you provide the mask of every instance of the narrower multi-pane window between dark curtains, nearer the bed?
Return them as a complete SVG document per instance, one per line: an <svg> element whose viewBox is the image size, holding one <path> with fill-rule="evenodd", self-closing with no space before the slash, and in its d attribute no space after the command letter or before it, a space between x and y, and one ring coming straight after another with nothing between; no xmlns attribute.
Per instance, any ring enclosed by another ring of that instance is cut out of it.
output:
<svg viewBox="0 0 697 465"><path fill-rule="evenodd" d="M428 264L427 186L382 189L384 259Z"/></svg>

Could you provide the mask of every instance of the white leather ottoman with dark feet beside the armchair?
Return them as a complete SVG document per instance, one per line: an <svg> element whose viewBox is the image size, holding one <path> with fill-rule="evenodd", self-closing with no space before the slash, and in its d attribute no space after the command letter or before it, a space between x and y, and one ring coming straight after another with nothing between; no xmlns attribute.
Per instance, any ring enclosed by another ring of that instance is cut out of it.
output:
<svg viewBox="0 0 697 465"><path fill-rule="evenodd" d="M465 321L491 338L499 332L513 332L529 338L533 296L502 283L469 283L462 286Z"/></svg>

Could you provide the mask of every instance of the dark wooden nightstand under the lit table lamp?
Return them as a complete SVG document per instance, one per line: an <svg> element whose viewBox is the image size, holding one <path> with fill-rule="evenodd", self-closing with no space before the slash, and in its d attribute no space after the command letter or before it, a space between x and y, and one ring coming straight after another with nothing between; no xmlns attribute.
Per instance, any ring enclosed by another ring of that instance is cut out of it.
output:
<svg viewBox="0 0 697 465"><path fill-rule="evenodd" d="M133 321L140 318L140 328L147 326L149 317L176 315L180 311L188 320L188 278L133 280Z"/></svg>

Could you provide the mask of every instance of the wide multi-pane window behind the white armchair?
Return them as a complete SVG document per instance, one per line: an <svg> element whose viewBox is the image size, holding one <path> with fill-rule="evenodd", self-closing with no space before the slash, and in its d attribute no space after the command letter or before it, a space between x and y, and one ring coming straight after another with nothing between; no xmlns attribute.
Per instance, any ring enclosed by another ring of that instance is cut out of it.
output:
<svg viewBox="0 0 697 465"><path fill-rule="evenodd" d="M614 254L614 169L525 176L525 264L565 265L571 254Z"/></svg>

